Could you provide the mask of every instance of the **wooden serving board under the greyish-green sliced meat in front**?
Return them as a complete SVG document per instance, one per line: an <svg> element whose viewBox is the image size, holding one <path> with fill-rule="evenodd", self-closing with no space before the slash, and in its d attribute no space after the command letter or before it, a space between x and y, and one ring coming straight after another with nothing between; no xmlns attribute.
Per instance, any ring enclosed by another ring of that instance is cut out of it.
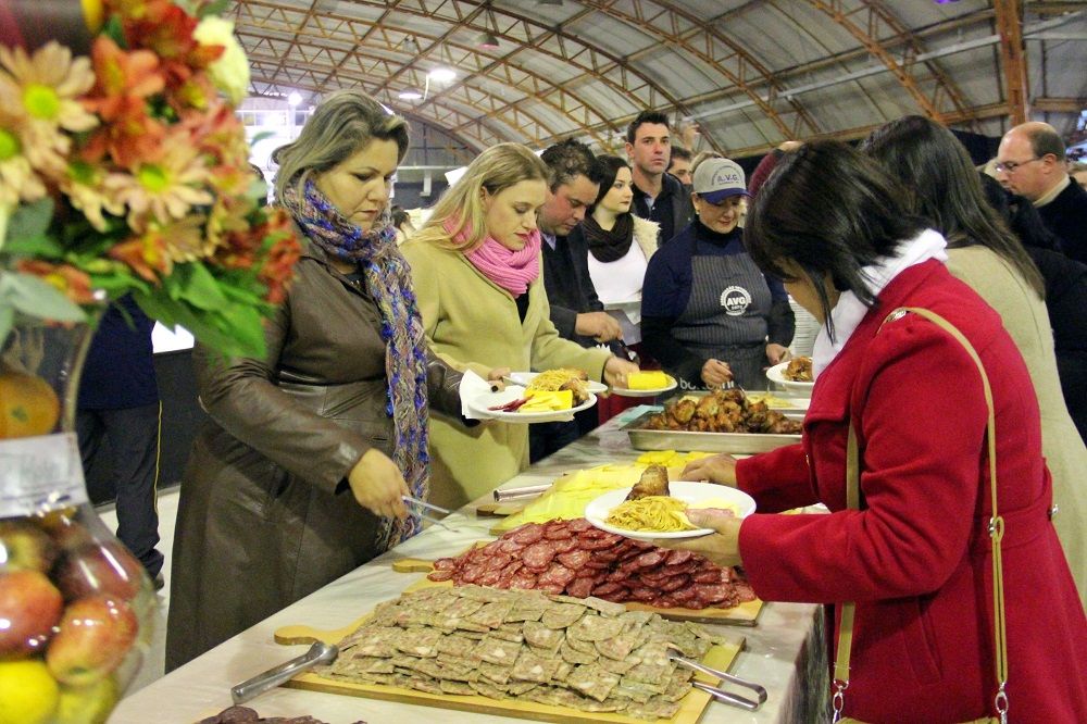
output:
<svg viewBox="0 0 1087 724"><path fill-rule="evenodd" d="M361 626L370 617L370 614L362 616L352 624L335 631L320 631L310 626L284 626L276 629L275 640L277 644L312 644L313 641L325 641L326 644L338 644L345 636ZM744 649L744 637L732 636L723 645L714 646L702 659L702 663L720 671L728 671L736 657ZM716 685L715 678L704 674L696 674L696 681ZM455 709L458 711L468 711L479 714L493 714L497 716L513 716L515 719L527 719L537 722L621 722L623 724L646 724L646 720L624 716L622 714L580 711L566 707L550 707L548 704L536 703L535 701L518 701L516 699L491 699L484 696L463 696L454 694L427 694L415 689L404 689L398 686L383 686L379 684L353 684L342 682L307 672L299 674L284 686L310 691L322 691L325 694L340 694L351 697L363 697L366 699L382 699L383 701L397 701L407 704L421 707L437 707L439 709ZM679 712L670 720L657 720L658 722L671 722L671 724L697 724L702 717L702 712L710 703L711 697L705 691L694 689L683 699Z"/></svg>

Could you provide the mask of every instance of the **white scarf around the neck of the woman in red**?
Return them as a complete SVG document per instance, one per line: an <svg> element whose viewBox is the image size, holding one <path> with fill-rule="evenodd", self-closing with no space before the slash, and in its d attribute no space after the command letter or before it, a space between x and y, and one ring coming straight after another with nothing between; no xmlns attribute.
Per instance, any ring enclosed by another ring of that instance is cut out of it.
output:
<svg viewBox="0 0 1087 724"><path fill-rule="evenodd" d="M901 242L894 257L886 257L871 266L862 267L861 276L867 280L872 296L878 297L891 279L910 266L929 259L946 262L948 260L948 254L945 251L947 246L948 242L939 232L927 228L909 241ZM841 292L838 303L830 310L835 340L830 341L826 324L820 327L819 335L815 337L815 347L812 350L812 372L816 377L826 370L827 365L841 351L841 348L846 346L861 320L869 313L869 309L852 291Z"/></svg>

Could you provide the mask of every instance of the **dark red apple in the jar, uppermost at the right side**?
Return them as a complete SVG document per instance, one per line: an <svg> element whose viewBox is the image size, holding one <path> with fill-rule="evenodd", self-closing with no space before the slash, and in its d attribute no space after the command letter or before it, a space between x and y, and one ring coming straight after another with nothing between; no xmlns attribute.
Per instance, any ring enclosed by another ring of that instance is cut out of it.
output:
<svg viewBox="0 0 1087 724"><path fill-rule="evenodd" d="M64 556L57 581L70 601L96 594L129 601L143 585L143 566L121 544L91 544Z"/></svg>

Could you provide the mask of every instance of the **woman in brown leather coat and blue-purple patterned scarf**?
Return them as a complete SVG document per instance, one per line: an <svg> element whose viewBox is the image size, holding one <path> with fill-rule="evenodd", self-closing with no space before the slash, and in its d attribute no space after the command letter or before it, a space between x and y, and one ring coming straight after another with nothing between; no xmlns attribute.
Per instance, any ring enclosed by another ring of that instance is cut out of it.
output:
<svg viewBox="0 0 1087 724"><path fill-rule="evenodd" d="M461 375L430 355L387 204L403 120L327 98L279 148L276 202L305 251L263 360L195 351L209 422L182 482L166 669L418 532L428 420Z"/></svg>

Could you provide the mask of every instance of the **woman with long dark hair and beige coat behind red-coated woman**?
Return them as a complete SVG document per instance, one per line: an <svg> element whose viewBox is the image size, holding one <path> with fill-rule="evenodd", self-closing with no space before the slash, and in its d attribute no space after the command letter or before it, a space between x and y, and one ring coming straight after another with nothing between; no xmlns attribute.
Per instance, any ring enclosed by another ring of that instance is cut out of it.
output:
<svg viewBox="0 0 1087 724"><path fill-rule="evenodd" d="M1087 600L1087 448L1061 392L1041 275L986 201L966 149L950 130L905 116L875 130L863 149L914 190L915 212L948 240L948 269L997 310L1023 354L1053 476L1053 526L1079 598Z"/></svg>

